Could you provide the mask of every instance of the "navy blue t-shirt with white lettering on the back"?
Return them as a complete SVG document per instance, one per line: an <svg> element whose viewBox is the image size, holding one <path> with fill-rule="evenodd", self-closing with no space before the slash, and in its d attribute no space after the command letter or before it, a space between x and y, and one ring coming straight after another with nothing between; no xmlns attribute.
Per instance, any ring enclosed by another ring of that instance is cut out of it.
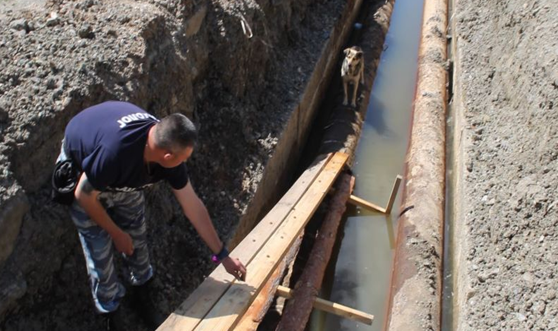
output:
<svg viewBox="0 0 558 331"><path fill-rule="evenodd" d="M164 168L143 160L147 133L158 119L136 105L107 101L84 109L66 126L71 159L99 191L137 191L166 179L174 189L188 182L185 163Z"/></svg>

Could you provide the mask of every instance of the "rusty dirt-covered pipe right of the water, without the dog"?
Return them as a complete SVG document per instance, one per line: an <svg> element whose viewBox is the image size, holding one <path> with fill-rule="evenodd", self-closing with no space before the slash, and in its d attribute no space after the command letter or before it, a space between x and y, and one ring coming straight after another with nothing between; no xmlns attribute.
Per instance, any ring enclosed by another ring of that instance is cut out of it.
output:
<svg viewBox="0 0 558 331"><path fill-rule="evenodd" d="M425 1L388 331L440 330L447 11L447 0Z"/></svg>

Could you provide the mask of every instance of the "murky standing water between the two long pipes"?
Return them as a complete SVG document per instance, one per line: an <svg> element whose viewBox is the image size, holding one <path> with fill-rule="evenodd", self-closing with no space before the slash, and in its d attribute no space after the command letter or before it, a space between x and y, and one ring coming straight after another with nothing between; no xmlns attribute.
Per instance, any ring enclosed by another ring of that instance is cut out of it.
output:
<svg viewBox="0 0 558 331"><path fill-rule="evenodd" d="M353 171L355 195L385 206L403 174L416 84L422 1L397 0L374 81ZM351 208L341 231L336 264L324 278L323 298L374 315L365 325L314 311L310 330L382 330L395 245L401 188L392 214Z"/></svg>

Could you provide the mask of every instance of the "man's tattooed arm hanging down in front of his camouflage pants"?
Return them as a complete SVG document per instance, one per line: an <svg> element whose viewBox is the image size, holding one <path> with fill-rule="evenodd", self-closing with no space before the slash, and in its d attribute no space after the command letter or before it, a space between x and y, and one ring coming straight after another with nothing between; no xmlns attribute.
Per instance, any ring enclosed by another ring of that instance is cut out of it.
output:
<svg viewBox="0 0 558 331"><path fill-rule="evenodd" d="M78 186L74 193L76 201L78 201L81 208L85 210L87 215L89 215L98 226L108 232L119 252L132 255L134 251L132 238L128 233L122 231L121 228L114 224L113 220L108 216L107 211L97 199L99 193L100 192L94 189L92 184L89 183L85 173L81 173Z"/></svg>

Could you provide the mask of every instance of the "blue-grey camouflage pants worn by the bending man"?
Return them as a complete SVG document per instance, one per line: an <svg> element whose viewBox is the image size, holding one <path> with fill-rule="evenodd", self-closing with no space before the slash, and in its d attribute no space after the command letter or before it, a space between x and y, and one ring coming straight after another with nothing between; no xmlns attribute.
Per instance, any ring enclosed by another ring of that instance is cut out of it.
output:
<svg viewBox="0 0 558 331"><path fill-rule="evenodd" d="M66 157L63 149L60 157ZM146 283L153 276L153 268L147 249L143 192L102 192L98 199L114 223L132 237L133 254L121 254L125 267L124 278L131 285ZM98 313L114 311L126 294L126 289L114 270L116 249L113 241L108 232L91 220L76 201L70 207L70 215L78 228L95 309Z"/></svg>

